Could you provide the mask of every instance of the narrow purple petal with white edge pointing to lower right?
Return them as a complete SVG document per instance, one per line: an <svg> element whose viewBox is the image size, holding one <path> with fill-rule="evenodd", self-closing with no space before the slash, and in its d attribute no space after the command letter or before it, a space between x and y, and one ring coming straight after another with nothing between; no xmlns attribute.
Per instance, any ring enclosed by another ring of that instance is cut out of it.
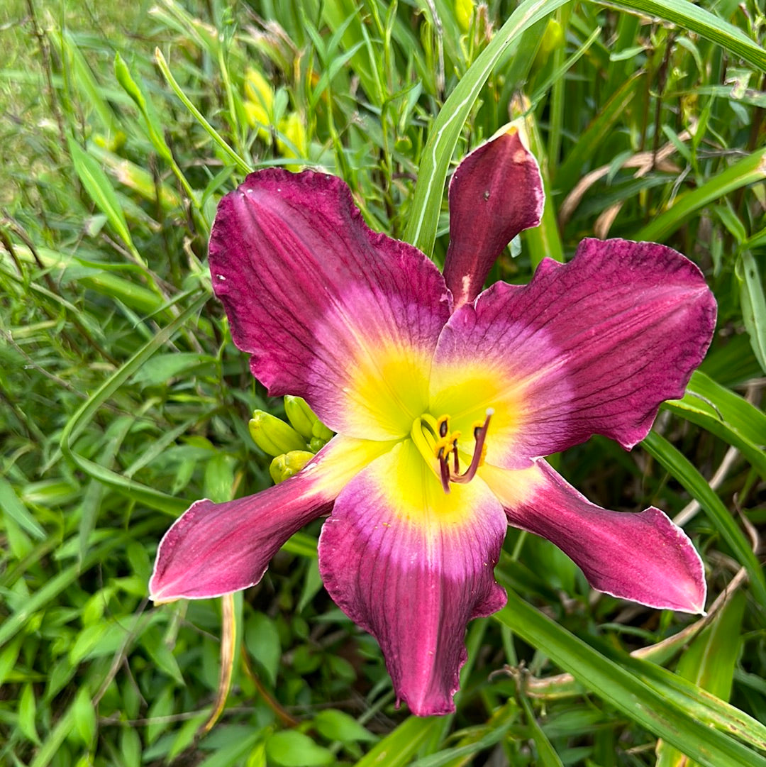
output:
<svg viewBox="0 0 766 767"><path fill-rule="evenodd" d="M702 560L659 509L601 509L543 460L521 471L485 466L480 472L505 506L508 522L561 548L593 588L649 607L705 611Z"/></svg>

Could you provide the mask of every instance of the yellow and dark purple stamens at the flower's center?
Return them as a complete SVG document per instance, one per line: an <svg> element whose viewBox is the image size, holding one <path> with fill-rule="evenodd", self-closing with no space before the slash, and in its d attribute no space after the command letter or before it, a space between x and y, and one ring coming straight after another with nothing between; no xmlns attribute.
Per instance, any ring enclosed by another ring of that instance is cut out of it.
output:
<svg viewBox="0 0 766 767"><path fill-rule="evenodd" d="M476 475L476 470L482 465L486 453L485 440L489 429L489 420L495 411L488 408L485 420L476 421L473 425L474 447L468 468L460 471L459 439L461 433L449 428L449 416L441 416L438 420L429 413L413 421L410 436L426 463L436 471L442 482L444 492L449 492L450 482L465 484ZM438 462L438 468L434 463Z"/></svg>

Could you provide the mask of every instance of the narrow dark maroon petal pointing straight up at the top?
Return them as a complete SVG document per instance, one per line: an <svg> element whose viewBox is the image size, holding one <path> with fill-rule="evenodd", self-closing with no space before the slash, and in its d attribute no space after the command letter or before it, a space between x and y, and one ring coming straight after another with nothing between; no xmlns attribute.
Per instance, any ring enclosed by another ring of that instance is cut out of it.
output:
<svg viewBox="0 0 766 767"><path fill-rule="evenodd" d="M508 242L540 224L543 202L540 168L515 127L460 163L449 183L449 249L444 262L455 308L476 298Z"/></svg>

